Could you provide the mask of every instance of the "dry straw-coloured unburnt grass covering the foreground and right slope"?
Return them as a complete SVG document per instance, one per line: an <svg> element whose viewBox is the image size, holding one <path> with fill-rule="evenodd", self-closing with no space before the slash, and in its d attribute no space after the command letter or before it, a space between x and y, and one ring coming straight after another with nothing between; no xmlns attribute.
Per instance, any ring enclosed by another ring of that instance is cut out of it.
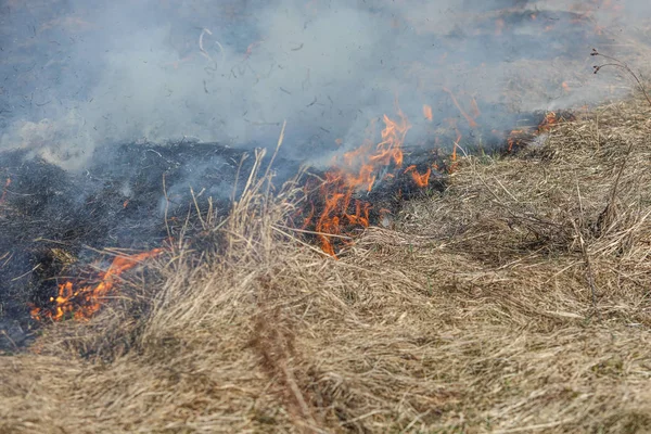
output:
<svg viewBox="0 0 651 434"><path fill-rule="evenodd" d="M214 252L2 358L0 432L650 432L650 114L465 158L340 260L252 179Z"/></svg>

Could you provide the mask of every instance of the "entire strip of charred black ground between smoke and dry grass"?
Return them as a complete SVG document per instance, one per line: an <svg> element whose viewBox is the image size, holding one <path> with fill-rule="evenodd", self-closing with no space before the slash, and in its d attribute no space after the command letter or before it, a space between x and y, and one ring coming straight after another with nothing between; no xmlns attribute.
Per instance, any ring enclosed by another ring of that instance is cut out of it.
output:
<svg viewBox="0 0 651 434"><path fill-rule="evenodd" d="M544 123L545 116L518 117L514 124L525 127L511 151L531 142L537 131L532 126ZM455 131L445 133L452 140ZM476 130L464 148L473 153L492 149L508 153L509 143L503 139L498 146L499 136ZM148 251L174 239L181 229L188 235L196 234L201 229L187 227L187 221L196 221L197 206L205 213L209 202L216 218L226 217L252 170L254 152L219 143L125 143L99 150L88 168L76 173L26 151L1 153L0 180L10 180L0 204L0 327L7 333L0 337L2 345L27 342L31 330L38 328L29 307L48 308L63 279L88 275L89 265L98 260L100 267L107 265L111 258L104 257L102 250ZM267 156L265 163L269 161ZM424 189L405 170L414 166L424 173L434 164L438 170L433 170ZM385 226L391 221L386 217L397 215L405 201L443 191L449 165L447 152L433 143L407 145L403 167L393 170L395 177L378 182L371 192L357 192L355 200L371 204L371 225ZM278 155L273 167L281 170L276 170L276 184L293 177L299 166L301 162ZM299 227L308 213L322 210L318 186L326 170L310 168L298 180L306 197L293 225ZM346 233L358 229L355 225L343 227ZM305 238L318 243L314 235ZM196 248L212 248L214 242L218 241L195 237ZM345 247L343 242L335 244L337 251Z"/></svg>

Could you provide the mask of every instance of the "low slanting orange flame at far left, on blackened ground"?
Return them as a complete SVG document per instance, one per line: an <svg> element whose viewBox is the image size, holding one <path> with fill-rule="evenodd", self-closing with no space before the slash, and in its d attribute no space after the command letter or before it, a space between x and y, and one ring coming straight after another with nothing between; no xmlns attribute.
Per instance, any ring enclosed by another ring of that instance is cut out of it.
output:
<svg viewBox="0 0 651 434"><path fill-rule="evenodd" d="M35 307L31 317L37 320L50 318L59 321L67 315L77 320L89 319L103 304L104 298L115 288L119 276L136 267L144 259L159 255L162 248L129 256L116 256L108 269L99 275L100 283L95 285L77 286L73 281L59 284L59 295L50 297L53 306L47 309Z"/></svg>

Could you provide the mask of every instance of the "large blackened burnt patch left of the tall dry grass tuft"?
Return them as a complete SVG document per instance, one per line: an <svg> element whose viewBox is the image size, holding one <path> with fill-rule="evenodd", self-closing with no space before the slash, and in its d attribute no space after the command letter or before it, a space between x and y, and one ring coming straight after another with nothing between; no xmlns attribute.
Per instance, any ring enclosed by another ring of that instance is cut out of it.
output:
<svg viewBox="0 0 651 434"><path fill-rule="evenodd" d="M1 329L21 343L35 326L29 306L47 306L59 279L101 261L102 250L151 250L176 237L196 215L191 189L202 212L210 197L215 217L226 216L251 171L248 151L127 143L98 151L77 173L24 151L1 153L0 178L11 180L0 204Z"/></svg>

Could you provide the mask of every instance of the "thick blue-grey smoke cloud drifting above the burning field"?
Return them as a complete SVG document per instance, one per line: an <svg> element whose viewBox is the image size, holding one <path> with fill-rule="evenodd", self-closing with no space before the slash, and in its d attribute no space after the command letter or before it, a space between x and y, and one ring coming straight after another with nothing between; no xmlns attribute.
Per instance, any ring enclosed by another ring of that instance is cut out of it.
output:
<svg viewBox="0 0 651 434"><path fill-rule="evenodd" d="M505 8L511 17L539 17L505 23L496 12ZM268 145L283 120L285 150L323 158L336 139L360 144L372 119L396 113L396 100L413 126L410 140L424 142L433 127L423 104L433 106L434 125L463 122L443 88L468 97L462 104L481 102L480 123L509 128L507 113L612 97L608 77L591 75L589 50L638 31L651 7L41 0L3 1L0 14L0 149L28 148L75 169L95 146L120 141ZM567 38L579 34L588 37Z"/></svg>

